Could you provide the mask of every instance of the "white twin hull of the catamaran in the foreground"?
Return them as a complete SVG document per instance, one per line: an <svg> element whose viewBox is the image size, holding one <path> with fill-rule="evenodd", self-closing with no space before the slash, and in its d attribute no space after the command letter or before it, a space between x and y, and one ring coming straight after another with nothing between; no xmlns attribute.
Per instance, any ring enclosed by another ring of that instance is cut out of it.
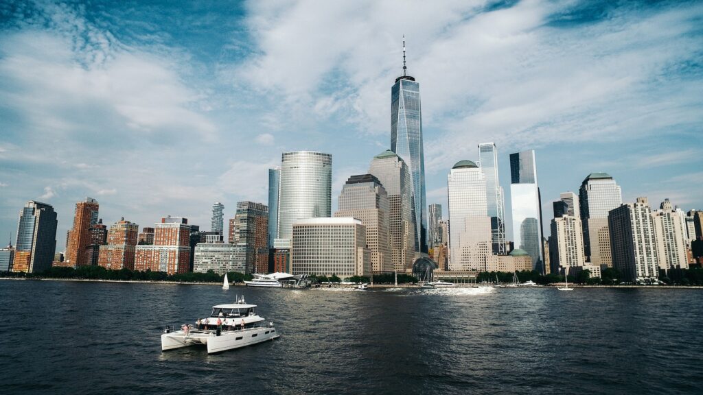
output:
<svg viewBox="0 0 703 395"><path fill-rule="evenodd" d="M161 335L161 350L167 351L180 349L196 345L205 345L207 354L214 354L221 351L238 349L250 346L278 337L276 328L247 328L245 330L233 330L221 332L217 336L215 332L193 332L186 336L182 330Z"/></svg>

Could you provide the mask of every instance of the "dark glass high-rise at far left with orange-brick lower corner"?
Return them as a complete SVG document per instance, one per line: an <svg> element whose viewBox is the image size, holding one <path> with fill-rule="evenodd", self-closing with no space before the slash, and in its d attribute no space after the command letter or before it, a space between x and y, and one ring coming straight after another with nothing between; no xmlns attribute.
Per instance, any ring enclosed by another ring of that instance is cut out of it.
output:
<svg viewBox="0 0 703 395"><path fill-rule="evenodd" d="M30 200L20 211L12 271L39 273L51 267L56 252L56 212Z"/></svg>

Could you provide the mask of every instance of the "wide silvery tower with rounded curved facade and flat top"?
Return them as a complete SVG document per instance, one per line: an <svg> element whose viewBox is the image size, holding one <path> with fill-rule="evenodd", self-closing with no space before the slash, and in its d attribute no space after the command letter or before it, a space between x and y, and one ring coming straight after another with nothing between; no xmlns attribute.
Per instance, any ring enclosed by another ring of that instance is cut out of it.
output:
<svg viewBox="0 0 703 395"><path fill-rule="evenodd" d="M295 221L331 214L332 155L283 153L280 167L278 239L281 245L290 245Z"/></svg>

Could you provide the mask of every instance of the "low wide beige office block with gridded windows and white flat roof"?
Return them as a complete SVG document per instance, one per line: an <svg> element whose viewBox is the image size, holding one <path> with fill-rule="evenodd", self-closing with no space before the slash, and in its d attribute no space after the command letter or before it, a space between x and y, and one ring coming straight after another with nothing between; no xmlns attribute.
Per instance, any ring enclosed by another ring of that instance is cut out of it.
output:
<svg viewBox="0 0 703 395"><path fill-rule="evenodd" d="M366 227L354 218L302 219L293 225L290 266L293 275L371 275Z"/></svg>

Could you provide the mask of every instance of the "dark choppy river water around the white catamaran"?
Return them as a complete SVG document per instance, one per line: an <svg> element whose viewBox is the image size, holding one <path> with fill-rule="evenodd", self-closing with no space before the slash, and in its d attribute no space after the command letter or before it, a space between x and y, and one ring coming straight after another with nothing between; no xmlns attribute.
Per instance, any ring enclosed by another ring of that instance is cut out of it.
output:
<svg viewBox="0 0 703 395"><path fill-rule="evenodd" d="M282 337L162 352L244 294ZM0 281L2 394L694 394L702 290L272 290Z"/></svg>

